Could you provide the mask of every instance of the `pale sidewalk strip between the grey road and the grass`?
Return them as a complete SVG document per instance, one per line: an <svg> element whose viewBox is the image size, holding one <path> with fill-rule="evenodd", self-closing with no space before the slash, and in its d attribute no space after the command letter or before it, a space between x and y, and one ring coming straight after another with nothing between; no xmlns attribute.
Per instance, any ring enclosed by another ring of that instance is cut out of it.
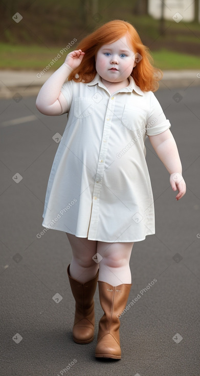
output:
<svg viewBox="0 0 200 376"><path fill-rule="evenodd" d="M41 75L38 71L0 71L0 98L12 98L14 94L21 96L37 95L43 83L53 71ZM200 69L164 71L160 81L161 89L187 88L200 85Z"/></svg>

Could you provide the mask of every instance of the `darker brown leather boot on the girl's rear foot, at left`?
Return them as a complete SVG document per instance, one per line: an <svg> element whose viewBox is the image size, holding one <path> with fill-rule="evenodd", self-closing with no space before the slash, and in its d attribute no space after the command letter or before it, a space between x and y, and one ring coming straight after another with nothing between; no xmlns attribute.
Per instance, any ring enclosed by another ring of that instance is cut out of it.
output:
<svg viewBox="0 0 200 376"><path fill-rule="evenodd" d="M94 339L95 310L93 297L97 287L98 275L99 270L94 279L81 283L70 276L70 265L68 266L70 286L76 301L73 326L73 340L76 343L90 343Z"/></svg>

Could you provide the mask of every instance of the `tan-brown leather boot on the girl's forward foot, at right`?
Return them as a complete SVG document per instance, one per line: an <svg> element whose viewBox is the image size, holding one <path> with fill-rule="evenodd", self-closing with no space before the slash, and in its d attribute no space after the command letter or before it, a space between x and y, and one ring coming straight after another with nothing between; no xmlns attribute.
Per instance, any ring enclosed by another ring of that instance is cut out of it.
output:
<svg viewBox="0 0 200 376"><path fill-rule="evenodd" d="M126 306L132 284L112 286L98 281L99 298L104 315L99 322L96 358L121 359L119 316Z"/></svg>

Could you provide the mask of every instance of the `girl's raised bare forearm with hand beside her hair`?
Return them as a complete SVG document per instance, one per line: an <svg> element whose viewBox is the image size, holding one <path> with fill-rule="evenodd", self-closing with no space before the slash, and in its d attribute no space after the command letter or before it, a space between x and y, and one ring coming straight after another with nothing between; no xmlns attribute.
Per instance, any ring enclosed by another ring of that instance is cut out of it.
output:
<svg viewBox="0 0 200 376"><path fill-rule="evenodd" d="M77 68L84 56L81 50L70 52L65 62L55 71L41 87L36 99L36 107L44 115L61 115L68 112L69 106L60 92L66 78Z"/></svg>

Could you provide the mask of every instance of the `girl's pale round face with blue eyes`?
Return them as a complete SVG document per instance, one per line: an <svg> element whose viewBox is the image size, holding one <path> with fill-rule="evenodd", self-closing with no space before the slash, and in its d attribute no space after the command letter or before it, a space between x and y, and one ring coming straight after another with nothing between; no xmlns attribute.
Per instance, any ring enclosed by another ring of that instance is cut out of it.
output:
<svg viewBox="0 0 200 376"><path fill-rule="evenodd" d="M108 82L127 82L135 66L135 52L129 47L125 35L101 46L96 55L96 71Z"/></svg>

